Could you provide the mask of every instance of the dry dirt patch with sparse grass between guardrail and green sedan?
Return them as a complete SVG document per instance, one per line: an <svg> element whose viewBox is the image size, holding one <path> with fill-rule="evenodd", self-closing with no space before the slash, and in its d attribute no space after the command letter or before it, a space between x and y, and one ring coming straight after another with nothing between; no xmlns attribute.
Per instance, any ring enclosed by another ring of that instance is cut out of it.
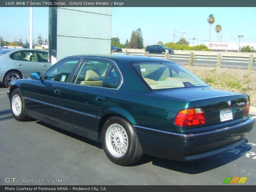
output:
<svg viewBox="0 0 256 192"><path fill-rule="evenodd" d="M181 66L207 82L214 89L249 94L251 106L256 106L256 70Z"/></svg>

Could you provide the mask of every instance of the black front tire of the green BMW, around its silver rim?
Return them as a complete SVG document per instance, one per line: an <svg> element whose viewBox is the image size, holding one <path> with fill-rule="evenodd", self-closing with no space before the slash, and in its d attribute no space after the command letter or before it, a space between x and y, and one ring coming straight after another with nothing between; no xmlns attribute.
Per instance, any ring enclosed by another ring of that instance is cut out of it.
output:
<svg viewBox="0 0 256 192"><path fill-rule="evenodd" d="M20 110L20 114L15 113L15 98L19 97L20 101L21 101L21 110ZM20 92L20 89L15 89L12 92L11 95L11 99L10 99L10 104L11 104L11 111L12 111L12 116L14 117L14 119L16 119L17 121L27 121L29 120L29 117L26 114L26 106L22 97L22 93Z"/></svg>

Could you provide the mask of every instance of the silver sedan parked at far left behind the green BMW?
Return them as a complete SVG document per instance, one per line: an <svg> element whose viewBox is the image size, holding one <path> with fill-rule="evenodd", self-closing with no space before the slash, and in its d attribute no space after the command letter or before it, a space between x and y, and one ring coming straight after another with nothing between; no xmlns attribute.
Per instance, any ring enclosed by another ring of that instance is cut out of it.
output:
<svg viewBox="0 0 256 192"><path fill-rule="evenodd" d="M27 49L0 50L0 83L6 87L16 79L30 77L31 72L44 72L48 63L48 52Z"/></svg>

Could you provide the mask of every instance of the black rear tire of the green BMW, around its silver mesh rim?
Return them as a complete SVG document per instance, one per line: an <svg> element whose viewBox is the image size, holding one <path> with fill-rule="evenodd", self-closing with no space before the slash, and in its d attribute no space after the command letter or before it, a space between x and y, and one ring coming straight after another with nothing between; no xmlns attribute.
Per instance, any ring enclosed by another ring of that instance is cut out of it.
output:
<svg viewBox="0 0 256 192"><path fill-rule="evenodd" d="M123 156L121 157L114 156L111 153L111 148L109 148L109 145L107 144L108 137L106 138L106 134L108 134L108 128L111 128L111 126L113 126L114 124L121 125L127 133L128 146L124 154L122 154ZM143 150L141 148L140 141L133 126L128 121L119 116L109 117L108 120L105 122L102 130L101 142L108 159L115 164L122 166L133 164L139 161L140 158L143 156Z"/></svg>

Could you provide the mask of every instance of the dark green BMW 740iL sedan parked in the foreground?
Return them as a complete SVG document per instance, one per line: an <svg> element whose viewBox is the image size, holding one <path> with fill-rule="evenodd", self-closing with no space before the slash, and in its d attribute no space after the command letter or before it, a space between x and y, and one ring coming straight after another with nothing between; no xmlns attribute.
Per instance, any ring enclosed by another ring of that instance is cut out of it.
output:
<svg viewBox="0 0 256 192"><path fill-rule="evenodd" d="M35 118L102 142L119 165L143 154L192 161L234 148L252 129L246 94L211 88L177 63L129 55L66 57L12 81L18 121Z"/></svg>

